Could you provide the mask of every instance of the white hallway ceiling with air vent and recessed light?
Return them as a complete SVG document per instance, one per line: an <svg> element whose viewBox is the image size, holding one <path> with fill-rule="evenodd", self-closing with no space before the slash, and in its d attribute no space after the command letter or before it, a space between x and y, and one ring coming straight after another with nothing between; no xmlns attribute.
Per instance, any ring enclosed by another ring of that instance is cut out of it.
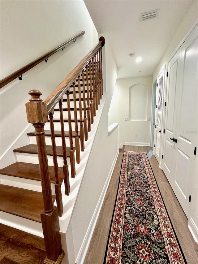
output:
<svg viewBox="0 0 198 264"><path fill-rule="evenodd" d="M153 75L193 3L183 0L84 2L98 33L105 33L108 38L118 66L118 78ZM157 18L140 22L140 13L154 9L160 9ZM135 53L135 57L130 58L130 53ZM143 58L140 63L135 62L138 56Z"/></svg>

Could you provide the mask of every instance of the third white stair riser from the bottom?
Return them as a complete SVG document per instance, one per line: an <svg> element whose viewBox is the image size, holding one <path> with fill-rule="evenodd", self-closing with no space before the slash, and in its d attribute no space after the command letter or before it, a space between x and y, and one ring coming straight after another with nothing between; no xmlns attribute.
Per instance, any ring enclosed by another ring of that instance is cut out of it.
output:
<svg viewBox="0 0 198 264"><path fill-rule="evenodd" d="M29 153L16 153L16 158L18 162L26 162L26 163L34 163L34 164L39 164L38 163L38 155L37 154L29 154ZM53 157L52 156L47 156L48 159L48 165L49 166L54 166L53 162ZM57 157L57 162L58 162L58 167L63 166L63 158L62 157ZM67 164L70 164L70 158L67 158Z"/></svg>

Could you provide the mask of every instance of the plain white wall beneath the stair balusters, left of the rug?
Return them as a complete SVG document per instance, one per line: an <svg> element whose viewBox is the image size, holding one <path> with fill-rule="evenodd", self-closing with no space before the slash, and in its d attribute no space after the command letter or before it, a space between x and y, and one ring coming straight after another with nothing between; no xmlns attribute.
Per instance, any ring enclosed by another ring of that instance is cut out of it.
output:
<svg viewBox="0 0 198 264"><path fill-rule="evenodd" d="M106 81L105 78L103 79L104 88L106 87L108 94L71 219L75 259L79 254L84 236L88 230L102 190L105 186L105 182L110 173L112 163L118 151L117 129L108 136L107 120L118 70L106 38L102 52L103 77L105 76L106 78Z"/></svg>

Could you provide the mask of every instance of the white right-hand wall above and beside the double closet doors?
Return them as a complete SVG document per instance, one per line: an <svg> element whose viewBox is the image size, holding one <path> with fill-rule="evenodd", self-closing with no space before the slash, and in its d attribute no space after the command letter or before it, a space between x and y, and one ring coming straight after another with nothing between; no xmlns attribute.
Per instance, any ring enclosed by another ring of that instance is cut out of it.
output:
<svg viewBox="0 0 198 264"><path fill-rule="evenodd" d="M183 38L187 35L188 31L192 29L193 24L198 22L198 1L194 1L192 6L190 7L189 11L187 12L185 18L183 19L182 23L180 24L177 32L175 33L174 37L170 41L170 44L162 57L159 65L157 66L156 70L153 74L153 82L157 79L157 75L161 69L161 67L166 64L170 58L170 56L173 54L173 52L176 50L180 42L183 40ZM197 175L197 168L196 173ZM192 234L194 236L194 239L198 243L198 208L197 208L197 201L198 201L198 179L195 178L194 184L193 184L193 193L192 193L192 200L190 205L190 219L188 221L188 224L190 226L190 230L192 231Z"/></svg>

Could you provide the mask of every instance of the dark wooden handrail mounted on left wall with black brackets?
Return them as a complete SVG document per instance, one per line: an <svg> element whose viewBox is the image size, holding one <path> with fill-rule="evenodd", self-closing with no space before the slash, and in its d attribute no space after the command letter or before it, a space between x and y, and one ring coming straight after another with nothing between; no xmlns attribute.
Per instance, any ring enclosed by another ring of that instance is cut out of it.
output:
<svg viewBox="0 0 198 264"><path fill-rule="evenodd" d="M10 83L11 81L15 80L16 78L18 78L19 76L21 76L22 74L24 74L26 71L29 71L30 69L32 69L34 66L36 66L39 63L41 63L45 59L47 60L51 55L53 55L54 53L56 53L58 50L64 49L64 47L67 46L72 41L75 42L75 40L77 38L79 38L81 36L83 37L84 34L85 34L85 31L80 32L78 35L76 35L76 36L72 37L71 39L67 40L66 42L62 43L61 45L59 45L55 49L49 51L48 53L42 55L41 57L39 57L36 60L32 61L31 63L27 64L26 66L20 68L18 71L15 71L12 74L10 74L9 76L5 77L4 79L2 79L0 81L0 88L2 88L3 86L5 86L6 84ZM20 77L19 80L21 80L21 77Z"/></svg>

